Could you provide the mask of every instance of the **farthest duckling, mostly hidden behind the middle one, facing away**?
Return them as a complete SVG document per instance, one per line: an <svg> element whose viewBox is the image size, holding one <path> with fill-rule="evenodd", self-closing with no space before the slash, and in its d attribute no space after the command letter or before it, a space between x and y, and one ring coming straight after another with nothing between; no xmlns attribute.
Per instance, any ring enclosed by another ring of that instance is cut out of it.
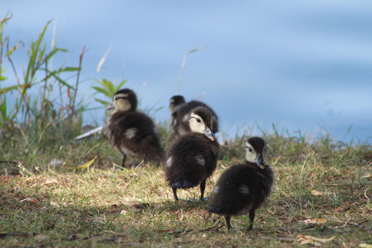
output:
<svg viewBox="0 0 372 248"><path fill-rule="evenodd" d="M169 110L171 113L170 123L176 136L181 136L190 132L189 123L187 123L187 121L190 119L191 110L196 107L205 107L209 112L211 112L213 120L211 131L213 133L218 132L218 116L211 107L203 102L195 100L186 103L183 96L177 95L171 97L169 104Z"/></svg>

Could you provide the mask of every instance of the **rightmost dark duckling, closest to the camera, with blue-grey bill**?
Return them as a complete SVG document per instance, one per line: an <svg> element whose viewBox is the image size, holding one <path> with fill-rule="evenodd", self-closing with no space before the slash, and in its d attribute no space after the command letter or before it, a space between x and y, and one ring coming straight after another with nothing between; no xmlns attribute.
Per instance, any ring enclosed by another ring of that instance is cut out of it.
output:
<svg viewBox="0 0 372 248"><path fill-rule="evenodd" d="M208 212L224 215L228 229L231 215L247 213L248 229L253 228L256 209L266 201L275 180L273 169L264 162L266 145L262 138L249 138L244 155L244 164L232 165L222 173L209 202Z"/></svg>

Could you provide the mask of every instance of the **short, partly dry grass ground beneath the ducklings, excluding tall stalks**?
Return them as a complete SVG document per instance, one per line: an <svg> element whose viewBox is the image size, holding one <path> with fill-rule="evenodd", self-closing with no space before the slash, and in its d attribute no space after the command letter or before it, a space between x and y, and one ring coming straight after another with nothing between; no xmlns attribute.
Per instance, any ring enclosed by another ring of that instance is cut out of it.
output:
<svg viewBox="0 0 372 248"><path fill-rule="evenodd" d="M169 129L159 127L165 146ZM372 151L327 138L263 135L275 169L272 195L247 216L208 218L207 202L174 202L163 170L152 164L117 170L117 154L104 137L44 141L19 132L1 149L1 247L288 247L372 244ZM45 142L50 142L46 145ZM228 166L243 161L241 138L225 141L207 181L209 195ZM92 160L83 169L79 165ZM133 164L141 161L131 161ZM199 190L180 190L181 199ZM315 223L317 222L317 223ZM302 238L310 235L316 239ZM297 238L297 239L296 239ZM316 243L316 244L315 244ZM304 244L308 246L308 244Z"/></svg>

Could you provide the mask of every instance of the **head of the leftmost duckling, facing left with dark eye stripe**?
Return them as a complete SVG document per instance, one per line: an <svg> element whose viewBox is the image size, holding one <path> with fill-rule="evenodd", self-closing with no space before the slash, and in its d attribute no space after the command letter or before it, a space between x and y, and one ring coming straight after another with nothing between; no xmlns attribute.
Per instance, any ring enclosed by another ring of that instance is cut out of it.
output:
<svg viewBox="0 0 372 248"><path fill-rule="evenodd" d="M135 111L137 109L137 96L134 91L122 89L112 97L112 104L107 110L115 108L119 111Z"/></svg>

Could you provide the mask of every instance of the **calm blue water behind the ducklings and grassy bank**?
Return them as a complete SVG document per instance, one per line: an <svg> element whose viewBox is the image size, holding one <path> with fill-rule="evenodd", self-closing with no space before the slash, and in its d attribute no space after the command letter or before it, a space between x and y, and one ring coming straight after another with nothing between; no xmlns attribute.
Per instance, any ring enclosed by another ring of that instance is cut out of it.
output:
<svg viewBox="0 0 372 248"><path fill-rule="evenodd" d="M215 109L227 135L272 133L274 123L289 135L301 129L372 140L371 1L1 0L0 17L7 12L11 44L25 42L13 56L17 68L50 19L46 41L55 25L57 46L73 50L67 65L78 65L86 45L79 92L89 107L100 106L95 80L128 79L141 108L163 106L150 114L167 120L183 54L206 46L187 57L180 94L192 100L205 93L200 100ZM58 58L55 64L65 59ZM103 117L103 109L89 111L84 122L102 125Z"/></svg>

